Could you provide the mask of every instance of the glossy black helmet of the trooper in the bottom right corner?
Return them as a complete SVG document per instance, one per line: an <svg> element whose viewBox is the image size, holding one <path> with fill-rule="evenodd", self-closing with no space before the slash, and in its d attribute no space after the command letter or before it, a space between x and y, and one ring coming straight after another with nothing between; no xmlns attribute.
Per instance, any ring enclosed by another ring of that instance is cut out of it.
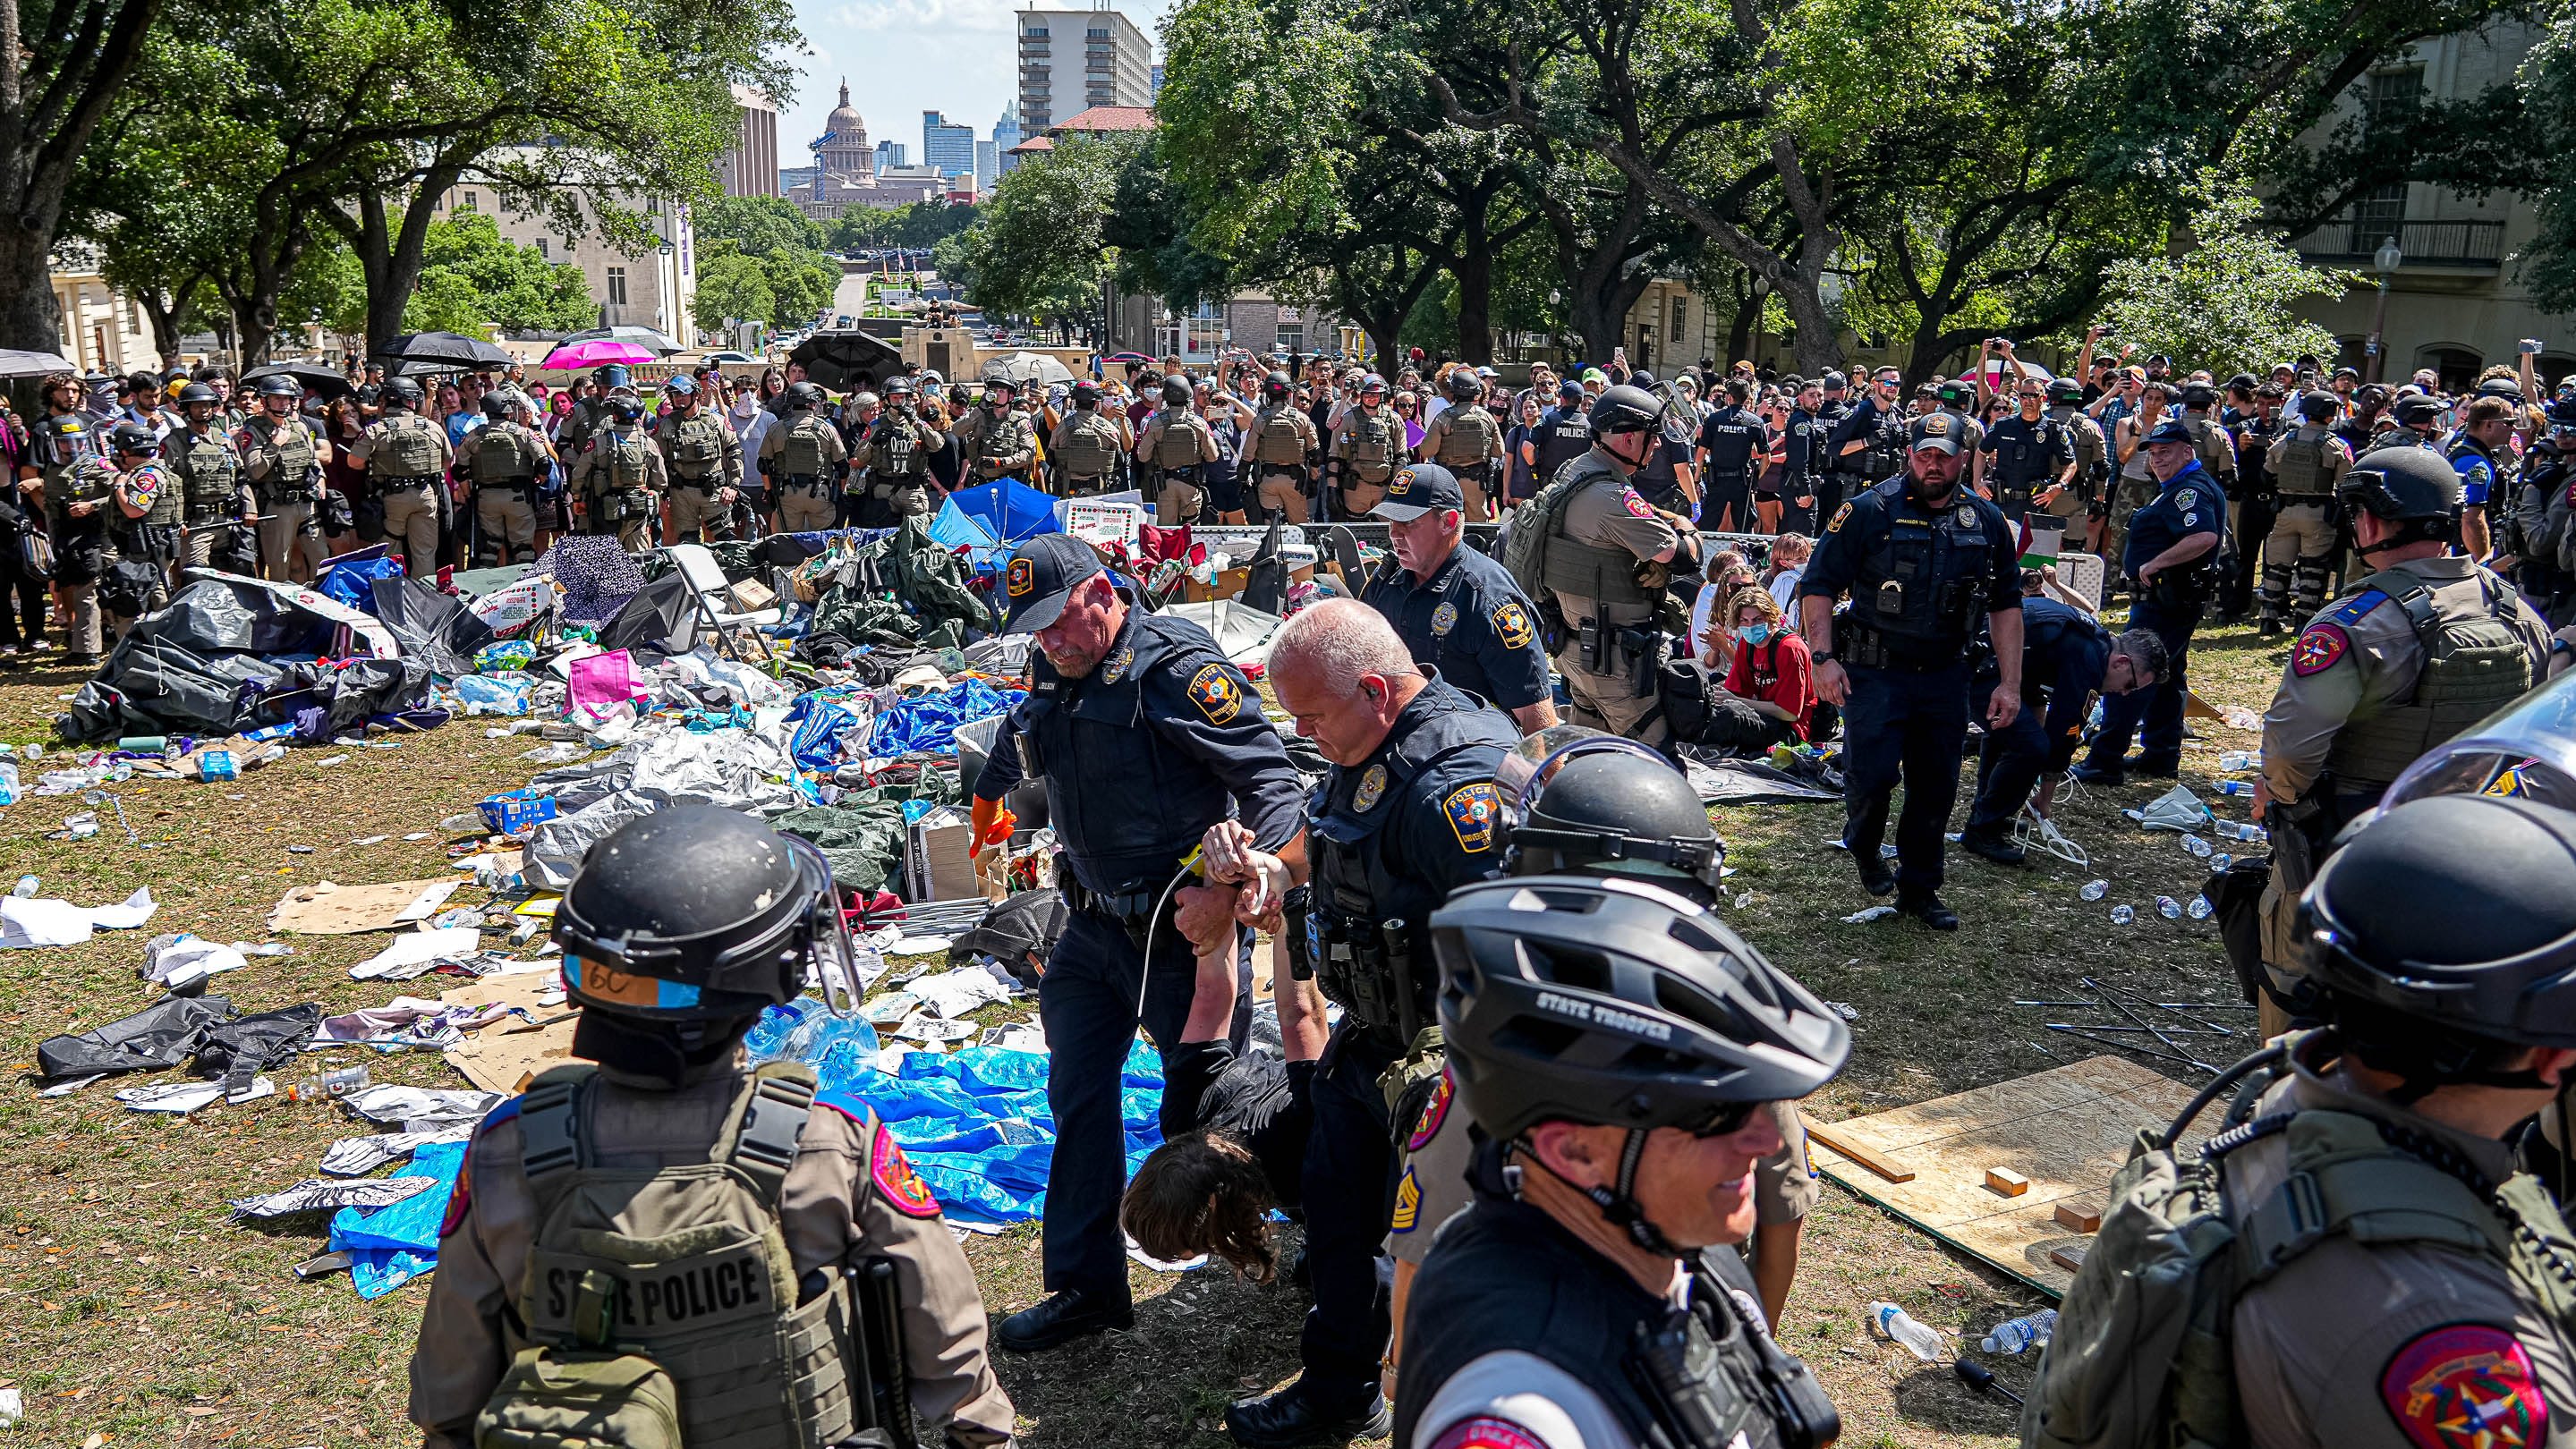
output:
<svg viewBox="0 0 2576 1449"><path fill-rule="evenodd" d="M2576 816L2429 795L2378 816L2300 898L2326 991L2491 1042L2576 1048Z"/></svg>

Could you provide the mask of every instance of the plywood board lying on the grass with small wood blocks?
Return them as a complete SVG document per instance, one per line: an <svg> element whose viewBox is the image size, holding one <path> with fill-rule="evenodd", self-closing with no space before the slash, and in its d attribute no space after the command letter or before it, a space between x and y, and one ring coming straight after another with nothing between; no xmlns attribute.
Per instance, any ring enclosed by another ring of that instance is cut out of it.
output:
<svg viewBox="0 0 2576 1449"><path fill-rule="evenodd" d="M1814 1138L1808 1153L1816 1171L1924 1233L2063 1295L2074 1282L2063 1256L2092 1238L2069 1233L2058 1204L2099 1212L2102 1189L2128 1161L2138 1130L2166 1127L2192 1091L2128 1058L2097 1055L1829 1125L1829 1135L1911 1171L1909 1181L1888 1181ZM1999 1197L1986 1186L1989 1168L2009 1168L2030 1179L2030 1189Z"/></svg>

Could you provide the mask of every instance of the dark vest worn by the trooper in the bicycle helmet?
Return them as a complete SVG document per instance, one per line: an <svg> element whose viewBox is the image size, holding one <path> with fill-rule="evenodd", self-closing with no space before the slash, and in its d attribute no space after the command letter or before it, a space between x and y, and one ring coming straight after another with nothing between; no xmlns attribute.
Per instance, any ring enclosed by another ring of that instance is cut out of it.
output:
<svg viewBox="0 0 2576 1449"><path fill-rule="evenodd" d="M1530 1354L1600 1395L1631 1444L1808 1449L1842 1431L1814 1372L1749 1320L1752 1269L1734 1248L1690 1261L1690 1307L1649 1295L1553 1217L1492 1192L1450 1217L1414 1279L1396 1374L1396 1444L1486 1354ZM1502 1168L1530 1171L1530 1168ZM1741 1436L1741 1439L1739 1439Z"/></svg>

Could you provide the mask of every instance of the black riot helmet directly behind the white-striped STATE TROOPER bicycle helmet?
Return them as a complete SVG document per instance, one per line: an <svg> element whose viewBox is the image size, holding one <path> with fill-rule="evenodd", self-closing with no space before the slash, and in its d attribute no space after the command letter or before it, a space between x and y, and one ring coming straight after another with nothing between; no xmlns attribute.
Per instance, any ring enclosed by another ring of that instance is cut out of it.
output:
<svg viewBox="0 0 2576 1449"><path fill-rule="evenodd" d="M1726 847L1669 759L1584 726L1520 741L1494 770L1512 826L1510 875L1633 875L1708 903Z"/></svg>

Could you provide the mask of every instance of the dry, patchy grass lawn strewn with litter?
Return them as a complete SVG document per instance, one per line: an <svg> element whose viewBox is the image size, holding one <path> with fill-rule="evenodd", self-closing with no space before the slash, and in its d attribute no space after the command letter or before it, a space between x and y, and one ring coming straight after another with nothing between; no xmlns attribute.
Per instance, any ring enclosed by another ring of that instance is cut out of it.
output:
<svg viewBox="0 0 2576 1449"><path fill-rule="evenodd" d="M2251 631L2205 633L2192 651L2195 685L2218 705L2262 710L2280 672L2280 641ZM0 677L0 739L49 739L64 672ZM2254 749L2246 731L2202 721L2184 752L2184 782L2215 800L2221 749ZM137 978L155 932L209 939L268 939L263 919L289 885L374 883L446 870L438 821L471 800L526 782L518 759L536 741L484 739L461 721L399 749L291 752L229 785L121 788L131 844L100 808L88 842L49 842L77 798L26 800L0 811L0 880L39 872L46 896L82 906L152 885L162 909L144 932L100 932L82 947L0 952L0 1050L18 1081L0 1096L0 1387L26 1395L18 1441L46 1449L106 1444L404 1444L404 1361L428 1282L361 1302L345 1277L296 1282L291 1264L322 1246L322 1223L250 1230L229 1220L232 1197L314 1176L322 1150L363 1127L330 1107L283 1096L209 1107L193 1117L126 1112L98 1084L62 1099L31 1086L36 1042L131 1014L152 993ZM33 772L28 772L33 782ZM2190 898L2205 872L2174 836L2146 836L2120 806L2164 782L2076 800L2061 818L2092 854L2092 870L2035 857L1999 870L1953 852L1947 901L1955 937L1911 921L1844 924L1868 906L1850 862L1826 849L1834 806L1723 811L1718 829L1739 867L1731 888L1749 901L1734 924L1832 1001L1860 1011L1850 1071L1808 1112L1837 1120L1963 1091L2089 1055L2084 1042L2040 1032L2040 1011L2017 996L2066 996L2079 975L2223 999L2231 975L2208 921L2164 921L2159 893ZM2239 800L2221 813L2244 818ZM1965 811L1965 793L1960 798ZM363 836L381 844L348 844ZM289 852L309 844L312 854ZM2076 898L2087 878L2110 878L2102 903ZM471 903L479 893L459 893ZM2110 924L2112 903L2138 909ZM379 937L286 937L289 957L252 957L211 991L242 1011L319 1001L327 1011L381 1004L402 983L355 983L345 968ZM420 981L415 993L440 983ZM1012 1011L1025 1014L1025 1011ZM366 1060L376 1081L464 1086L435 1055L330 1053L296 1071ZM155 1078L144 1078L155 1081ZM170 1081L162 1076L157 1081ZM969 1259L994 1313L1036 1302L1033 1228L974 1238ZM1221 1274L1164 1277L1136 1269L1133 1333L1092 1338L1038 1359L999 1356L1020 1405L1020 1434L1046 1446L1224 1444L1226 1400L1296 1374L1303 1297L1293 1287L1247 1287ZM2007 1408L1971 1398L1947 1367L1919 1364L1875 1341L1870 1300L1893 1300L1953 1333L2040 1305L2040 1297L1922 1233L1829 1186L1808 1220L1806 1256L1780 1338L1824 1377L1842 1410L1844 1444L1996 1446L2012 1441ZM2014 1387L2027 1367L1999 1361Z"/></svg>

